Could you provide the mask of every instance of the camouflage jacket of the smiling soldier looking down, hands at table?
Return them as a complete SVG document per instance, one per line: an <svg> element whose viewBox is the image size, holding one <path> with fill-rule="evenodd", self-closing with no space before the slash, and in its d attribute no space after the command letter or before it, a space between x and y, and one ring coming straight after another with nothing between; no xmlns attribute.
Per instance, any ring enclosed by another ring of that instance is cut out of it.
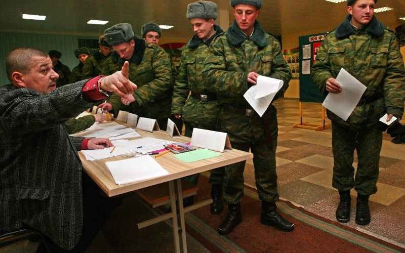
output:
<svg viewBox="0 0 405 253"><path fill-rule="evenodd" d="M219 114L218 100L203 102L192 96L188 99L187 97L189 91L196 95L213 94L210 88L205 86L201 71L209 55L211 41L223 32L217 25L214 28L215 34L207 41L194 35L183 48L172 97L172 114L180 113L186 124L203 129L215 128Z"/></svg>

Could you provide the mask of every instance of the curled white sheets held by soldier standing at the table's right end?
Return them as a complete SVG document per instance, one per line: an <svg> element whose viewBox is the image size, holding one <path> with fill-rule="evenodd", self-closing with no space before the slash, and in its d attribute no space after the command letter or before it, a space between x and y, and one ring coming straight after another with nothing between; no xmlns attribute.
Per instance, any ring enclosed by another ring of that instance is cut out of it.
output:
<svg viewBox="0 0 405 253"><path fill-rule="evenodd" d="M269 107L275 94L281 89L283 83L284 81L282 80L259 75L256 85L252 86L245 93L244 97L261 117L267 110L267 107Z"/></svg>

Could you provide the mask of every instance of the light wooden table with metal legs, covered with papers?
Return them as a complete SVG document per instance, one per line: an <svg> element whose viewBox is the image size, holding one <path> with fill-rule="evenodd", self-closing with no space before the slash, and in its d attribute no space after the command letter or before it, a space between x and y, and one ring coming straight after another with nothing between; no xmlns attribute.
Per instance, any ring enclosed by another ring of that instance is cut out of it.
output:
<svg viewBox="0 0 405 253"><path fill-rule="evenodd" d="M117 121L119 122L119 121ZM119 122L123 125L130 126L126 123ZM165 140L173 140L175 142L189 142L190 138L187 137L174 137L171 138L166 132L159 131L159 132L146 132L142 130L137 130L138 134L141 135L139 138L143 137L153 137L157 139L165 139ZM132 138L137 139L137 138ZM224 165L229 165L235 162L244 161L247 159L251 159L253 157L252 153L240 151L240 150L230 150L222 153L221 156L190 162L186 163L183 161L178 160L173 156L173 153L170 152L168 154L159 156L154 158L162 167L165 168L169 172L169 175L148 179L144 181L137 181L128 184L117 185L112 178L111 173L109 172L107 166L105 165L106 161L116 161L121 159L127 159L128 157L125 155L115 156L111 158L105 158L96 161L89 161L86 160L85 156L79 152L80 160L82 160L83 167L86 173L94 180L94 182L99 185L99 187L109 196L116 196L119 194L124 194L127 192L135 191L144 187L157 185L164 182L169 182L169 192L170 192L170 199L171 199L171 207L172 212L169 214L165 214L151 220L142 222L138 224L138 228L143 228L155 224L157 222L161 222L167 219L172 219L173 225L173 236L175 242L175 249L176 252L180 252L180 238L179 238L179 226L177 224L177 219L180 220L180 228L182 231L182 244L183 244L183 252L187 252L187 243L186 243L186 229L185 229L185 222L184 222L184 214L193 210L195 208L199 208L201 206L207 205L212 202L212 199L208 199L186 208L183 208L183 196L182 196L182 189L181 189L181 178L190 176L196 173L205 172L212 170L213 168L218 168ZM175 193L175 181L177 185L177 197L179 203L179 217L177 217L177 209L176 209L176 193Z"/></svg>

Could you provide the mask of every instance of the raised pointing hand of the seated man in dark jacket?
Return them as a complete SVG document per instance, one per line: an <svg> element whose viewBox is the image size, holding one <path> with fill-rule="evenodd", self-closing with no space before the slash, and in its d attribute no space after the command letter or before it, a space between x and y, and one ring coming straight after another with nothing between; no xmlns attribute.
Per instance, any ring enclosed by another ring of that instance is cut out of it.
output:
<svg viewBox="0 0 405 253"><path fill-rule="evenodd" d="M123 68L120 71L108 75L101 79L101 89L109 92L114 92L119 97L124 97L126 94L134 93L137 89L135 83L128 79L130 64L125 61Z"/></svg>

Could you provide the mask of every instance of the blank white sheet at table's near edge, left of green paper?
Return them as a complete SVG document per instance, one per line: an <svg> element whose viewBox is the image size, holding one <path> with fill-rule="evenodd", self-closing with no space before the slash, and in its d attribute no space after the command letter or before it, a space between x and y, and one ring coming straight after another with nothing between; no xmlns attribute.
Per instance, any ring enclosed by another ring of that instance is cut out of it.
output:
<svg viewBox="0 0 405 253"><path fill-rule="evenodd" d="M108 161L105 165L118 185L169 175L169 172L149 155Z"/></svg>

